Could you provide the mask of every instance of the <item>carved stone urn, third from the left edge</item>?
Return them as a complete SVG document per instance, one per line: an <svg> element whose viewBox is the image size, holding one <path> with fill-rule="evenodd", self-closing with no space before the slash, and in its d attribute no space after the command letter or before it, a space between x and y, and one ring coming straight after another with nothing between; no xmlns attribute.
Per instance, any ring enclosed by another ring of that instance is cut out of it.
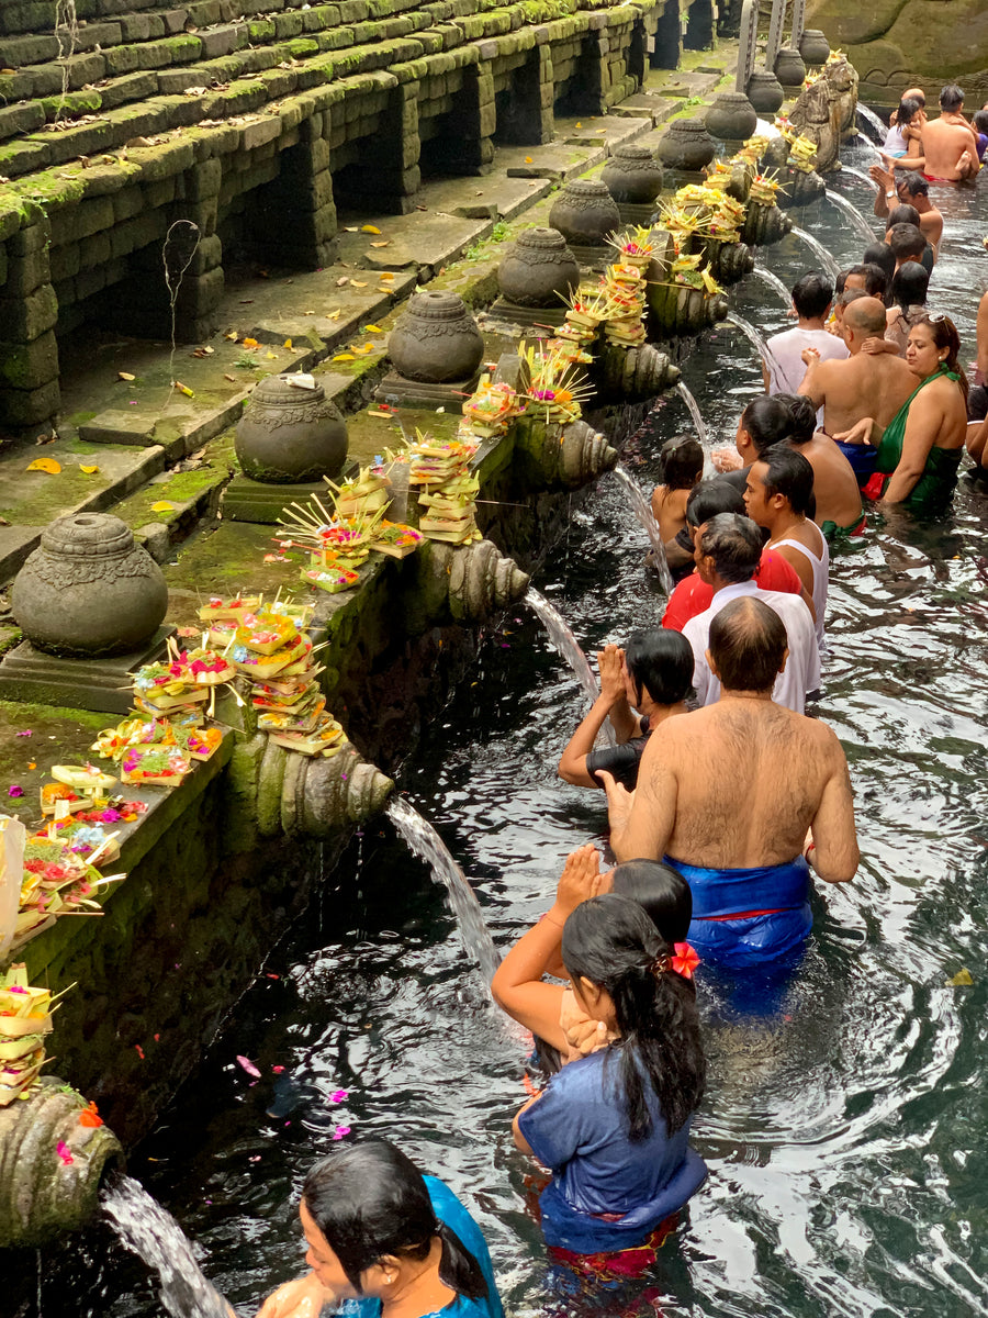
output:
<svg viewBox="0 0 988 1318"><path fill-rule="evenodd" d="M387 355L399 376L445 385L472 380L483 337L456 293L415 293L391 331Z"/></svg>

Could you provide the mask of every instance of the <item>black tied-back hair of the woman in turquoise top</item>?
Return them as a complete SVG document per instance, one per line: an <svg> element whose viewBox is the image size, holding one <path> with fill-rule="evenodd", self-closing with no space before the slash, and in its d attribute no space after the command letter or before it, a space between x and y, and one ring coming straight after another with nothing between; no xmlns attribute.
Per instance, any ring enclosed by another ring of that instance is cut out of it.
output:
<svg viewBox="0 0 988 1318"><path fill-rule="evenodd" d="M333 1149L306 1177L302 1202L358 1296L368 1268L386 1255L420 1263L435 1236L443 1242L440 1280L470 1300L489 1293L480 1263L436 1217L422 1172L387 1140L358 1139Z"/></svg>

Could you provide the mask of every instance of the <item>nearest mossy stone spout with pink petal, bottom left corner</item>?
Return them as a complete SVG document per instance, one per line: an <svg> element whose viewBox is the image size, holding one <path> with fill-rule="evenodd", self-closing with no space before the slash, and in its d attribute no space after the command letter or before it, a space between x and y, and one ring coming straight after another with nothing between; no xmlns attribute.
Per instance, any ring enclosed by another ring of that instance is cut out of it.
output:
<svg viewBox="0 0 988 1318"><path fill-rule="evenodd" d="M0 1249L38 1248L95 1214L100 1182L124 1153L109 1127L79 1120L86 1110L54 1075L0 1108Z"/></svg>

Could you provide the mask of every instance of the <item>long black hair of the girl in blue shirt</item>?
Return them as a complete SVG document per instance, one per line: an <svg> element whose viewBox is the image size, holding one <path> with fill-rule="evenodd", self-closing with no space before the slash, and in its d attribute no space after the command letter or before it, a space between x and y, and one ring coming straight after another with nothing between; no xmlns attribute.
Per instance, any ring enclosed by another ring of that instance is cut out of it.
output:
<svg viewBox="0 0 988 1318"><path fill-rule="evenodd" d="M669 944L638 902L606 892L582 902L563 929L563 963L614 1003L620 1039L605 1053L617 1062L632 1141L652 1131L648 1083L669 1135L703 1098L706 1058L697 1004L688 982L668 967Z"/></svg>

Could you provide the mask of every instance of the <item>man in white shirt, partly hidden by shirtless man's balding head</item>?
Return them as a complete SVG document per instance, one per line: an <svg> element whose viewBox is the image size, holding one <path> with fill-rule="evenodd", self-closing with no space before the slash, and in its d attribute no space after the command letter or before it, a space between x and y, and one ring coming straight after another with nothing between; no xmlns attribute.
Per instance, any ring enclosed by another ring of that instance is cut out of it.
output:
<svg viewBox="0 0 988 1318"><path fill-rule="evenodd" d="M819 688L819 647L810 610L797 594L761 590L752 577L761 558L761 532L751 518L719 513L700 532L696 561L702 581L714 588L706 613L690 618L682 635L693 647L693 685L700 705L721 699L721 683L707 658L710 623L731 600L752 596L779 614L788 637L786 659L772 688L772 700L797 714L806 708L806 695Z"/></svg>

